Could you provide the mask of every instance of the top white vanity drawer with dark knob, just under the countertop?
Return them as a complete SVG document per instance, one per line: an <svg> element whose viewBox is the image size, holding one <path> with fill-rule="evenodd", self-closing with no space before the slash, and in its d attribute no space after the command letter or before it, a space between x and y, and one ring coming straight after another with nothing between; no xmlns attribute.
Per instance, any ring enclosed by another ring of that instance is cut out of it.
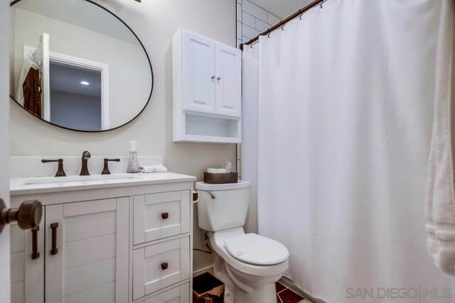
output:
<svg viewBox="0 0 455 303"><path fill-rule="evenodd" d="M190 232L190 191L134 196L134 239L141 244Z"/></svg>

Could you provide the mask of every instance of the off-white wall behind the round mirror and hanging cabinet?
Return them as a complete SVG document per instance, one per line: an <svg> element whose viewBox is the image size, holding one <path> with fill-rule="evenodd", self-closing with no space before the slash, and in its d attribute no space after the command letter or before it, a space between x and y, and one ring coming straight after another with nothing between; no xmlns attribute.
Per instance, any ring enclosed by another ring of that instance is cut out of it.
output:
<svg viewBox="0 0 455 303"><path fill-rule="evenodd" d="M50 126L11 105L11 155L127 155L129 141L139 141L140 155L163 155L172 172L202 179L206 167L235 162L234 144L172 142L171 37L179 26L235 46L235 1L232 0L97 0L122 18L144 43L154 69L154 92L149 106L127 126L103 133L80 133ZM117 8L117 9L116 9ZM5 65L4 65L5 66ZM195 221L197 226L197 221ZM195 246L203 248L195 227ZM213 263L195 252L194 269Z"/></svg>

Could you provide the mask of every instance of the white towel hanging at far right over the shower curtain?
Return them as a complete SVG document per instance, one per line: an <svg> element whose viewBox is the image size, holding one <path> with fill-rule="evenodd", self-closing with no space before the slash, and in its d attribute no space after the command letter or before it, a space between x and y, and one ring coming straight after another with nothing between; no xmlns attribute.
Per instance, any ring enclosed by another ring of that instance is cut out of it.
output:
<svg viewBox="0 0 455 303"><path fill-rule="evenodd" d="M427 248L438 268L455 275L455 192L454 155L455 140L454 81L454 5L447 6L441 15L437 45L436 94L432 144L427 179ZM451 129L453 128L453 129ZM452 138L453 137L453 138Z"/></svg>

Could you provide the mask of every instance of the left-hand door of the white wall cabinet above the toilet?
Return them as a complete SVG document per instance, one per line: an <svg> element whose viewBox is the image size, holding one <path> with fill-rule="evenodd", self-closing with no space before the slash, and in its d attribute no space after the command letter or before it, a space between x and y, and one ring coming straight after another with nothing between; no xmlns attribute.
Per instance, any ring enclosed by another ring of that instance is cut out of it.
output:
<svg viewBox="0 0 455 303"><path fill-rule="evenodd" d="M215 43L183 32L183 110L215 113Z"/></svg>

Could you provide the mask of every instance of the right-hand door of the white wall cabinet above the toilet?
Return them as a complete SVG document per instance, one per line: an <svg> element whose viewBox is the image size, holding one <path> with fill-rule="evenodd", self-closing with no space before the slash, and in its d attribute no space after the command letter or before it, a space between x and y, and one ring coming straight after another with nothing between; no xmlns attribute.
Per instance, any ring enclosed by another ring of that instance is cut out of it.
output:
<svg viewBox="0 0 455 303"><path fill-rule="evenodd" d="M215 46L215 113L241 116L242 108L242 55L237 48Z"/></svg>

